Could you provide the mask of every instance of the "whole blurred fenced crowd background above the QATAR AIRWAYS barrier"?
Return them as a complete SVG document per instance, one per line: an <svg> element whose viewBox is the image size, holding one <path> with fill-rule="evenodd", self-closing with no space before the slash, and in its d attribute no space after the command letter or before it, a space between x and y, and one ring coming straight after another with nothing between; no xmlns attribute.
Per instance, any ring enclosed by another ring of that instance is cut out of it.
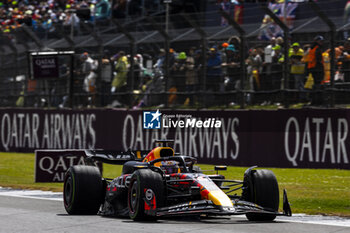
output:
<svg viewBox="0 0 350 233"><path fill-rule="evenodd" d="M303 0L5 0L0 106L347 105L350 1L313 2L323 19ZM35 78L34 52L58 75Z"/></svg>

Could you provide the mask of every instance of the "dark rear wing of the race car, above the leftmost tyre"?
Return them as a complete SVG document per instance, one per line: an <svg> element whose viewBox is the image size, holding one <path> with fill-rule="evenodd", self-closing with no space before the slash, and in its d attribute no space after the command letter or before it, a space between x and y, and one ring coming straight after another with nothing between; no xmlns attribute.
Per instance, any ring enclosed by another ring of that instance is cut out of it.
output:
<svg viewBox="0 0 350 233"><path fill-rule="evenodd" d="M87 163L99 161L108 164L124 164L128 161L142 161L149 151L84 150Z"/></svg>

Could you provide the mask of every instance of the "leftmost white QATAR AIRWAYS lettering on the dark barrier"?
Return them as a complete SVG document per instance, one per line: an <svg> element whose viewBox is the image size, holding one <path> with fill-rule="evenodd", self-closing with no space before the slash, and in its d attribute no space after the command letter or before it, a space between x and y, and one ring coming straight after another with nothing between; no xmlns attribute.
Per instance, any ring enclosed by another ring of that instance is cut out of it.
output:
<svg viewBox="0 0 350 233"><path fill-rule="evenodd" d="M16 148L94 148L95 114L5 113L1 116L1 146Z"/></svg>

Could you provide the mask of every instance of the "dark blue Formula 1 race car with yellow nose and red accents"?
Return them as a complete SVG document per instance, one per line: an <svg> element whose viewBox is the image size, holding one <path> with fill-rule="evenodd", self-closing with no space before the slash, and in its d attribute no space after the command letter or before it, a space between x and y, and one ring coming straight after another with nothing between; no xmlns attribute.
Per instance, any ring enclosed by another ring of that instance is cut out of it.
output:
<svg viewBox="0 0 350 233"><path fill-rule="evenodd" d="M113 154L86 151L89 165L69 168L64 179L64 207L69 214L130 216L133 220L184 215L239 215L250 221L272 221L277 215L291 216L286 191L283 213L278 212L279 189L270 170L251 167L243 181L218 174L205 175L196 159L176 155L167 144L144 156L138 152ZM123 164L121 176L102 178L94 162ZM241 190L241 195L234 194Z"/></svg>

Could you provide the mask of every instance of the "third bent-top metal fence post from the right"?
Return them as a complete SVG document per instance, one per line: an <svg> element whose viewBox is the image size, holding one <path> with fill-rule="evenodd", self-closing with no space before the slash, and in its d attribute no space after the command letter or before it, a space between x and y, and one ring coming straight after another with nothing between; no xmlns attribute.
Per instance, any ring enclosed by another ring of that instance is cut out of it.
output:
<svg viewBox="0 0 350 233"><path fill-rule="evenodd" d="M230 18L230 16L220 9L220 14L227 20L227 22L239 33L239 37L241 39L241 44L239 48L239 55L241 57L240 61L240 68L241 68L241 85L240 85L240 108L245 108L245 101L244 101L244 84L246 81L247 76L247 70L246 70L246 64L245 64L245 58L246 58L246 32L245 30L234 20Z"/></svg>

